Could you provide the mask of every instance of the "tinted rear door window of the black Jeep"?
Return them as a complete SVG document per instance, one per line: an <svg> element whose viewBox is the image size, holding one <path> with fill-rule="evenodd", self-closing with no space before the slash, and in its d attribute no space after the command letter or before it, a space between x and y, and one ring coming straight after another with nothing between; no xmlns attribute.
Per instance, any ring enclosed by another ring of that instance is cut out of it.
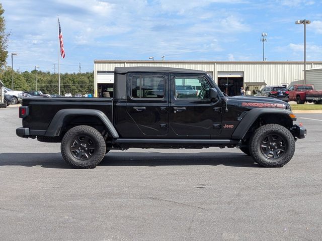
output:
<svg viewBox="0 0 322 241"><path fill-rule="evenodd" d="M165 78L163 76L132 77L133 98L164 98Z"/></svg>

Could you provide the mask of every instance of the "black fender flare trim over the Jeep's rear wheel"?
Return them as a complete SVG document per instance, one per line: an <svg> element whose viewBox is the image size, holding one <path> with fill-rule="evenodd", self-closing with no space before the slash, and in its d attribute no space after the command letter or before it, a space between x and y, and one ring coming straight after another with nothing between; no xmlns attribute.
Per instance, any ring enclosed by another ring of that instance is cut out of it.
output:
<svg viewBox="0 0 322 241"><path fill-rule="evenodd" d="M46 137L56 137L60 135L61 128L63 127L64 120L67 116L77 116L77 115L92 115L98 117L105 127L108 129L109 134L113 138L119 138L117 131L115 130L113 124L110 122L109 118L101 111L97 109L61 109L59 110L45 133Z"/></svg>

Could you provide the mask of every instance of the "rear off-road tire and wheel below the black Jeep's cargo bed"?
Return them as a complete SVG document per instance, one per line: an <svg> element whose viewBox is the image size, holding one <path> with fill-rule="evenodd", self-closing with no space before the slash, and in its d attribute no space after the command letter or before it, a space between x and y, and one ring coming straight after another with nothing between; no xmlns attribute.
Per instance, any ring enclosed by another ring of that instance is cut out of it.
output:
<svg viewBox="0 0 322 241"><path fill-rule="evenodd" d="M88 146L85 143L88 143ZM83 146L81 146L82 144ZM85 147L88 147L89 150L85 151ZM78 149L82 151L78 151ZM95 128L77 126L66 132L62 138L60 150L64 160L72 167L95 168L104 158L106 143L101 133ZM93 152L90 153L91 151Z"/></svg>

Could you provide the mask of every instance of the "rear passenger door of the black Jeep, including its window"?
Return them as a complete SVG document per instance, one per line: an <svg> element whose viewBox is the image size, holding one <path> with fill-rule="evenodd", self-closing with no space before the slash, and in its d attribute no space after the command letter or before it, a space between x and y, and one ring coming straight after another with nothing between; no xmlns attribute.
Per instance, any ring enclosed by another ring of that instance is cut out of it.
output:
<svg viewBox="0 0 322 241"><path fill-rule="evenodd" d="M169 130L168 74L129 74L126 111L129 130L147 138L165 136Z"/></svg>

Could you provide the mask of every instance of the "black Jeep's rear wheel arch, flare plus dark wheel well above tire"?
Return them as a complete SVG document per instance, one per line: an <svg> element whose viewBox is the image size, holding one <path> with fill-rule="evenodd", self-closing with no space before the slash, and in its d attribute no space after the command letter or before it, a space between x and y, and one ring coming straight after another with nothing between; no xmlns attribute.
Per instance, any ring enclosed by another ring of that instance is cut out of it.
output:
<svg viewBox="0 0 322 241"><path fill-rule="evenodd" d="M86 121L84 121L86 120ZM63 129L69 124L103 125L112 138L118 138L119 135L109 118L97 109L61 109L53 117L45 133L47 137L59 136Z"/></svg>

